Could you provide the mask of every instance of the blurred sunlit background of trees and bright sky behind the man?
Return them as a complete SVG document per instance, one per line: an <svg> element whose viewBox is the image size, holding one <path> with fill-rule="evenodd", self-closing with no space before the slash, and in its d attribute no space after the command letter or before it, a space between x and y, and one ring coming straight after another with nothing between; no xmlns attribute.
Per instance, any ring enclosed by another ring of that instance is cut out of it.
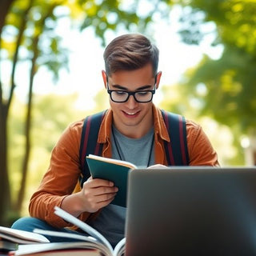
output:
<svg viewBox="0 0 256 256"><path fill-rule="evenodd" d="M0 225L28 202L70 122L106 109L102 53L142 33L154 102L199 122L222 166L256 165L254 0L0 0Z"/></svg>

